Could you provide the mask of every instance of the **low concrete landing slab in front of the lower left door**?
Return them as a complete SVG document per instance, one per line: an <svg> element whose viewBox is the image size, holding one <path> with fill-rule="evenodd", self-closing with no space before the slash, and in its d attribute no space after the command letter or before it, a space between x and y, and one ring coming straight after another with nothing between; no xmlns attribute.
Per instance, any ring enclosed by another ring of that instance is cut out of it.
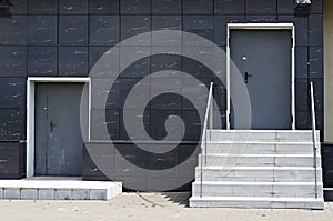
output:
<svg viewBox="0 0 333 221"><path fill-rule="evenodd" d="M8 200L110 200L121 192L121 182L79 178L0 180L0 199Z"/></svg>

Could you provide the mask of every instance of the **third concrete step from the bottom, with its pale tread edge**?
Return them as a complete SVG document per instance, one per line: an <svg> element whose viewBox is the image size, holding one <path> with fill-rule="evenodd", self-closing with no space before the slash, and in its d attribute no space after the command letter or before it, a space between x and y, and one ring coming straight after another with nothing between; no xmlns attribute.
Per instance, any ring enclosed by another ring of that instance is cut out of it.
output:
<svg viewBox="0 0 333 221"><path fill-rule="evenodd" d="M312 167L203 167L204 181L242 182L312 182ZM195 168L195 180L201 178L201 168ZM322 181L322 169L317 169L317 181Z"/></svg>

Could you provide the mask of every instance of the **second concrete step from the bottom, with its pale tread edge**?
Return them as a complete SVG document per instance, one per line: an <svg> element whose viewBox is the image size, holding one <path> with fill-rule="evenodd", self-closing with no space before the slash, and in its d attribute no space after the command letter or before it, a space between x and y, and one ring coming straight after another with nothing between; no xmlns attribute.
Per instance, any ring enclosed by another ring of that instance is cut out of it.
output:
<svg viewBox="0 0 333 221"><path fill-rule="evenodd" d="M192 183L192 195L200 195L200 181ZM319 183L319 198L323 185ZM314 198L314 182L221 182L203 181L204 197L264 197L264 198Z"/></svg>

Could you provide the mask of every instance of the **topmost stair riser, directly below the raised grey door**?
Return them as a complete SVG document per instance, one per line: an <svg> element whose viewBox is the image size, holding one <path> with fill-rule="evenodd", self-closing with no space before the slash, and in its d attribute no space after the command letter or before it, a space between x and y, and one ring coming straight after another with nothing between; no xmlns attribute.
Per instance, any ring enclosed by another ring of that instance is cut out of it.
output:
<svg viewBox="0 0 333 221"><path fill-rule="evenodd" d="M225 132L225 131L208 131L209 139L224 141L303 141L311 142L311 132ZM319 133L316 135L320 138Z"/></svg>

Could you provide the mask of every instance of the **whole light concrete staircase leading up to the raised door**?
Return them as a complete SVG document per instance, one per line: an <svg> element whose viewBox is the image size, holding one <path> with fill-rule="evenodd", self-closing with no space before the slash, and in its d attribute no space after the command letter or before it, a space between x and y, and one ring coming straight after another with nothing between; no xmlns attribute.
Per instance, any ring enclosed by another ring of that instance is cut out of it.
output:
<svg viewBox="0 0 333 221"><path fill-rule="evenodd" d="M311 131L211 130L208 139L190 207L324 208L320 143L315 198Z"/></svg>

